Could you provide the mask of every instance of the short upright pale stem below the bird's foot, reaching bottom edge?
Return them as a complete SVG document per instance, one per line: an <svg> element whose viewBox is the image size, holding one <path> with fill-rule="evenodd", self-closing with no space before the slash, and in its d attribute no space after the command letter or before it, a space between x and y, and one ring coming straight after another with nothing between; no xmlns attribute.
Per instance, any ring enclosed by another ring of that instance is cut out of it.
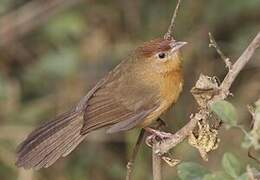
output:
<svg viewBox="0 0 260 180"><path fill-rule="evenodd" d="M160 146L160 142L153 143L153 180L162 180L162 159L157 153L158 146Z"/></svg>

